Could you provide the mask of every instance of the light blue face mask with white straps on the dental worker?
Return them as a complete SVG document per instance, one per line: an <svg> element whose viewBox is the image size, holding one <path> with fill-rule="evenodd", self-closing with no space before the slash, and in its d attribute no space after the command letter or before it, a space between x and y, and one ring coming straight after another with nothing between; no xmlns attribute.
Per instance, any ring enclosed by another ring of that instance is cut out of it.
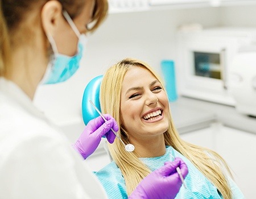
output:
<svg viewBox="0 0 256 199"><path fill-rule="evenodd" d="M79 69L79 63L82 58L82 51L84 47L84 43L86 42L86 37L84 34L80 34L77 29L75 23L73 23L72 19L68 15L66 11L63 12L63 15L73 31L76 33L79 38L79 43L77 47L77 54L75 56L68 56L60 54L57 51L56 43L51 35L47 34L47 38L49 43L51 43L53 50L53 57L48 64L46 73L44 74L42 84L56 84L59 82L63 82L68 80L77 69Z"/></svg>

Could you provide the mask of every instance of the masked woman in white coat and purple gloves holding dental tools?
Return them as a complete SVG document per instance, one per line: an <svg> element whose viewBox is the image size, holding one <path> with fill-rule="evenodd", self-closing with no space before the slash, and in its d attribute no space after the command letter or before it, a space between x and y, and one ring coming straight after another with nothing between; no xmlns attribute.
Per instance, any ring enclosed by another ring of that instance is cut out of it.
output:
<svg viewBox="0 0 256 199"><path fill-rule="evenodd" d="M93 119L70 146L32 99L39 84L63 82L77 71L84 35L107 11L107 0L0 0L1 198L106 198L82 160L103 135L114 142L110 128L117 131L117 123L110 115L106 122ZM180 159L167 162L130 198L174 198L181 186L176 167L187 175Z"/></svg>

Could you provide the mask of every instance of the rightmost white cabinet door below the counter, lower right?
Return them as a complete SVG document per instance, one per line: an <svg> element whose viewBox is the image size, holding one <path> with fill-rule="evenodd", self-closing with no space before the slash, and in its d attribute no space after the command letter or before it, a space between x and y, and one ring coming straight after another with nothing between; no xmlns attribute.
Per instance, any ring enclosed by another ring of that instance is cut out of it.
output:
<svg viewBox="0 0 256 199"><path fill-rule="evenodd" d="M216 152L229 164L234 180L245 197L255 198L256 134L221 127L216 135Z"/></svg>

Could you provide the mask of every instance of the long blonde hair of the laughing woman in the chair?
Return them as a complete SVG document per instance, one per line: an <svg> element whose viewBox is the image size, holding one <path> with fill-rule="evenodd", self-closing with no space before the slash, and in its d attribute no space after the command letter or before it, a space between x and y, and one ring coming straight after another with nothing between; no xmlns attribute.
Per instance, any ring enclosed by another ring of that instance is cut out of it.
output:
<svg viewBox="0 0 256 199"><path fill-rule="evenodd" d="M116 119L120 127L118 135L121 136L122 140L126 144L128 143L129 135L127 135L127 132L124 130L122 125L120 102L123 78L130 66L146 68L161 82L161 84L163 82L148 64L135 59L124 59L119 63L114 64L105 73L100 89L101 110L103 113L113 115ZM187 159L189 159L192 164L195 165L195 167L213 183L214 186L216 186L218 191L222 194L222 197L231 199L232 192L221 169L221 165L224 164L231 175L225 160L216 152L209 150L208 148L195 146L194 144L181 140L174 126L174 122L172 121L171 112L168 119L169 127L164 133L166 146L172 146L176 151L187 157ZM127 193L131 194L141 180L151 172L150 169L148 169L147 166L139 160L135 155L135 152L127 153L118 139L115 139L113 144L109 144L109 151L113 160L121 169L122 175L125 179Z"/></svg>

